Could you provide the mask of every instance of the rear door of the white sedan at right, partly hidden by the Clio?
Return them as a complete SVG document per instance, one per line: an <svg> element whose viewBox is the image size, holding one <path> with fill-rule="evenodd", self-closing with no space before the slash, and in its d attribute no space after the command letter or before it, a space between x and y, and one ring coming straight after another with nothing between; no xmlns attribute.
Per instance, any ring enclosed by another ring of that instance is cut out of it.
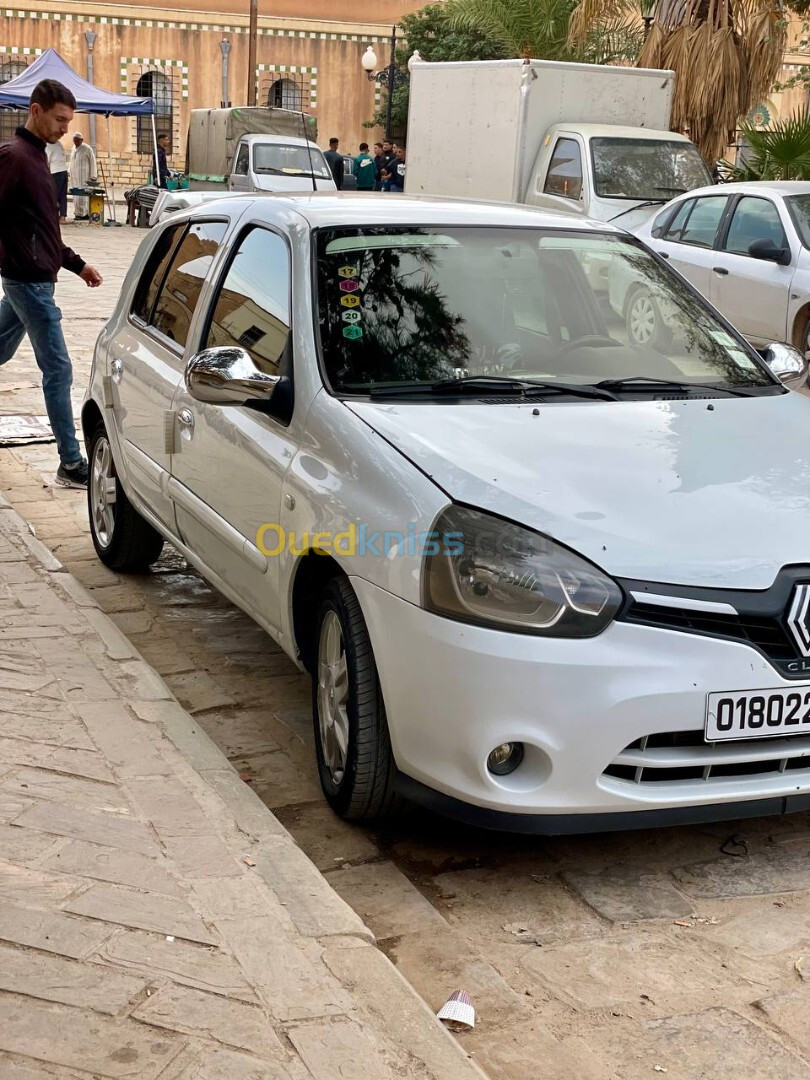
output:
<svg viewBox="0 0 810 1080"><path fill-rule="evenodd" d="M728 207L728 195L703 195L680 204L661 235L650 244L706 299L712 292L714 245ZM657 230L658 231L658 230Z"/></svg>

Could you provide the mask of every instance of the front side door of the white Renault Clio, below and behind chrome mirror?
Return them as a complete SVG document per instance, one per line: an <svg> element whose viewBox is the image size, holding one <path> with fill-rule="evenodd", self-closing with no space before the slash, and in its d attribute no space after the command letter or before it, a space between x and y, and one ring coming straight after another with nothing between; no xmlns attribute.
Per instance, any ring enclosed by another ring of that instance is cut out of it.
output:
<svg viewBox="0 0 810 1080"><path fill-rule="evenodd" d="M289 345L289 247L279 233L248 226L214 291L200 349L238 346L262 372L292 376ZM269 411L258 411L199 402L181 382L170 485L184 542L273 627L281 621L280 559L268 552L284 548L282 485L296 450L292 399L282 404L276 394Z"/></svg>

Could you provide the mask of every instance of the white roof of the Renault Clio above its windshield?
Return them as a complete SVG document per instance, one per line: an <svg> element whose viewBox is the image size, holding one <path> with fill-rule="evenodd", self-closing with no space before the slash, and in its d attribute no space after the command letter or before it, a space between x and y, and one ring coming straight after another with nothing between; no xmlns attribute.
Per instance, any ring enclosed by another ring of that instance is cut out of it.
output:
<svg viewBox="0 0 810 1080"><path fill-rule="evenodd" d="M265 192L245 195L242 199L228 198L228 210L233 212L243 202L249 203L254 210L257 206L266 207L268 217L274 216L276 211L293 211L303 217L313 229L368 225L489 225L593 230L617 234L623 231L604 221L592 221L575 217L572 214L539 210L534 206L468 199L440 199L434 195L370 194L362 191L339 194L330 191L298 194ZM204 208L200 206L198 210L200 214L211 214L216 210L216 203L206 203Z"/></svg>

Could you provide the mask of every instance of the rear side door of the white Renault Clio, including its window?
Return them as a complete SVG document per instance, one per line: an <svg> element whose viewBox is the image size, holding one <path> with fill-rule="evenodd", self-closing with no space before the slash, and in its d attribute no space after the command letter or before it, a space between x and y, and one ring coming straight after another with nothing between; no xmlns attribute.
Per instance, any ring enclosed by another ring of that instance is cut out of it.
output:
<svg viewBox="0 0 810 1080"><path fill-rule="evenodd" d="M127 483L172 531L172 441L164 421L183 377L200 291L227 227L219 219L164 230L136 286L130 318L109 345L111 413Z"/></svg>

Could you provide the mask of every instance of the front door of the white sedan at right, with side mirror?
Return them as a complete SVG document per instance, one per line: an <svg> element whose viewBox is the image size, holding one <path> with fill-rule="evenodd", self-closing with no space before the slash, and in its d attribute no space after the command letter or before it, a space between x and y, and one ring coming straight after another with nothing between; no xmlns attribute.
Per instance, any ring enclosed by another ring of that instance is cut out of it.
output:
<svg viewBox="0 0 810 1080"><path fill-rule="evenodd" d="M756 346L787 340L787 306L796 272L791 264L755 258L748 252L757 240L789 252L785 227L774 202L743 195L734 205L712 269L714 306Z"/></svg>

